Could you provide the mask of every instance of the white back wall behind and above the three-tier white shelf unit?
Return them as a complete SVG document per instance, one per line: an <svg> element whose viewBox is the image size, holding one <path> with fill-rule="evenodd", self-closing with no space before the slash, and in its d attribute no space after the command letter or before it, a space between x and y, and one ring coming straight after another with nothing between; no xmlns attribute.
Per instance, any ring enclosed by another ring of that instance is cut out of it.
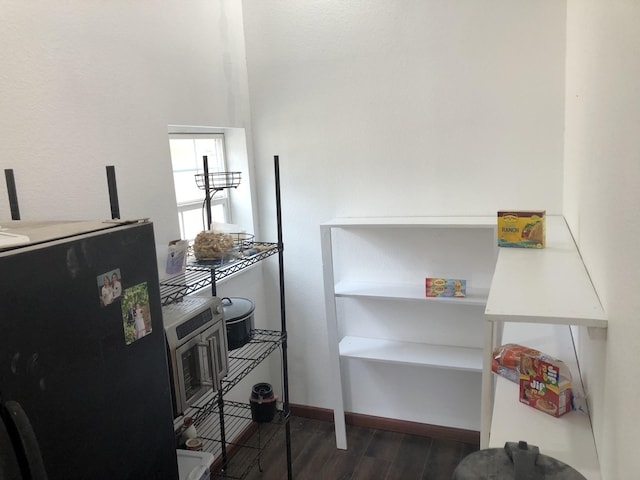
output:
<svg viewBox="0 0 640 480"><path fill-rule="evenodd" d="M260 181L272 178L271 156L281 160L292 401L330 408L319 224L561 213L566 4L243 7ZM271 193L260 193L273 232Z"/></svg>

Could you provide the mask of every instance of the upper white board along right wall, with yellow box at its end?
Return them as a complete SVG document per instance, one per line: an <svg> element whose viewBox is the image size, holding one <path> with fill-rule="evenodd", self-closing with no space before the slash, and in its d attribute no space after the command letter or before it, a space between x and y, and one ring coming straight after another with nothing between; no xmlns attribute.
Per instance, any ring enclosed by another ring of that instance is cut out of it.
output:
<svg viewBox="0 0 640 480"><path fill-rule="evenodd" d="M607 327L607 317L561 216L546 219L543 249L499 249L485 317Z"/></svg>

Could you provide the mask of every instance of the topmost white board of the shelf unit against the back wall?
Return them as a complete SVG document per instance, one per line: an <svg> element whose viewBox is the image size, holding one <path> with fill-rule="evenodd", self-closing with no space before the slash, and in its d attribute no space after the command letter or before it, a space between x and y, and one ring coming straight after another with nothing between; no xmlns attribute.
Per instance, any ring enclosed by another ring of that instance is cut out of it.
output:
<svg viewBox="0 0 640 480"><path fill-rule="evenodd" d="M433 227L495 228L497 216L486 217L344 217L334 218L321 227ZM497 240L496 240L497 241Z"/></svg>

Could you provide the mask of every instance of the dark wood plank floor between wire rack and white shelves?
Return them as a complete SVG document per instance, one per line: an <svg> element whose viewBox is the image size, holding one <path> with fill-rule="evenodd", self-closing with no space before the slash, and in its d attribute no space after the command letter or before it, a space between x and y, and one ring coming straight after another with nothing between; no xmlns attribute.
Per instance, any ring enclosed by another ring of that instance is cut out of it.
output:
<svg viewBox="0 0 640 480"><path fill-rule="evenodd" d="M478 449L452 440L347 425L349 448L338 450L333 423L301 417L290 422L296 480L451 480L460 460ZM284 446L280 428L247 479L286 479Z"/></svg>

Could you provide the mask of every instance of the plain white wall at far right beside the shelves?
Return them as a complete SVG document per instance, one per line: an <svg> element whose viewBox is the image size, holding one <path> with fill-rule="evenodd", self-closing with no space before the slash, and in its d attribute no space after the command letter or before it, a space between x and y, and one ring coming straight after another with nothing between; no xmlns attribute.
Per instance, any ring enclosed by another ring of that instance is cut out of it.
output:
<svg viewBox="0 0 640 480"><path fill-rule="evenodd" d="M605 480L640 471L638 25L638 2L568 1L565 214L609 316L606 342L580 335Z"/></svg>

